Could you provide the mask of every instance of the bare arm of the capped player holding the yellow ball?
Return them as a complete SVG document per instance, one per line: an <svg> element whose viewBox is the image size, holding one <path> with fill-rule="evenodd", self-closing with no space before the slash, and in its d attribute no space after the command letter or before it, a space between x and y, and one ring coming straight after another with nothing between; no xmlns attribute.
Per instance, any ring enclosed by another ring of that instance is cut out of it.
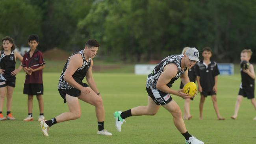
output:
<svg viewBox="0 0 256 144"><path fill-rule="evenodd" d="M158 82L156 83L156 88L169 93L169 94L174 94L176 96L180 96L182 98L190 98L189 94L185 94L181 90L173 90L167 87L167 83L171 81L172 78L176 76L178 72L178 68L175 64L171 63L169 65L166 65L165 68L163 69L163 73L160 75Z"/></svg>

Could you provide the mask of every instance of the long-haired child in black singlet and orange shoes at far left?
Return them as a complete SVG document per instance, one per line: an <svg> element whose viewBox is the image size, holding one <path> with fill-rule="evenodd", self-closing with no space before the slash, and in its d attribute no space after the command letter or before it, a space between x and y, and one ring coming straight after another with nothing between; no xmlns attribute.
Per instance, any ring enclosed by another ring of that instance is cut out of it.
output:
<svg viewBox="0 0 256 144"><path fill-rule="evenodd" d="M20 72L22 66L15 69L16 59L22 61L23 57L15 50L15 44L11 37L2 39L2 50L0 54L0 120L15 120L11 114L11 104L13 99L13 90L15 88L16 74ZM4 97L7 97L6 117L2 114Z"/></svg>

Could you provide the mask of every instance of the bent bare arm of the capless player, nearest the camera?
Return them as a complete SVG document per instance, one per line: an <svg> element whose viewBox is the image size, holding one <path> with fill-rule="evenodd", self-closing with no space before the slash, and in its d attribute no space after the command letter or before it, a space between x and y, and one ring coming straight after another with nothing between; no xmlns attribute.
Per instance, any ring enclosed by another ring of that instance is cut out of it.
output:
<svg viewBox="0 0 256 144"><path fill-rule="evenodd" d="M79 83L77 83L74 78L72 77L72 75L74 74L74 72L76 72L76 70L78 68L80 68L83 64L83 58L82 55L80 54L75 54L72 57L70 57L69 60L69 65L67 66L67 69L64 73L64 79L65 81L67 81L69 83L69 85L71 85L72 87L75 87L76 89L81 90L81 92L85 93L85 94L89 94L90 90L87 87L83 87L82 85L80 85Z"/></svg>

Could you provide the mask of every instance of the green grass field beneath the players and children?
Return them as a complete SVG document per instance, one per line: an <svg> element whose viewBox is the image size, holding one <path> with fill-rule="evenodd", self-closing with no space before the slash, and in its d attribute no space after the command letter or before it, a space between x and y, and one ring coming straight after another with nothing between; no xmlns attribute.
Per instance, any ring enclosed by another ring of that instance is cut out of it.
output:
<svg viewBox="0 0 256 144"><path fill-rule="evenodd" d="M63 66L63 64L62 64ZM61 67L62 67L61 66ZM68 111L67 104L59 96L57 90L60 72L43 74L45 94L45 117L50 119ZM138 105L147 104L145 82L147 76L136 76L124 73L95 73L105 107L105 128L113 134L111 137L96 135L97 121L93 106L80 102L82 116L56 124L50 128L50 137L43 137L39 122L23 122L27 116L27 96L23 94L24 72L17 75L16 88L13 93L12 113L17 120L0 121L1 144L184 144L184 137L173 124L173 118L165 109L161 108L155 116L134 116L126 119L122 125L122 132L116 131L114 126L114 111L124 111ZM220 113L226 118L218 121L211 98L204 103L204 119L199 120L199 99L197 95L191 102L193 118L186 120L186 127L192 135L205 144L253 144L256 141L256 121L252 120L256 112L249 100L244 99L237 120L230 116L234 113L237 92L240 83L239 74L234 76L219 76L217 99ZM178 89L177 80L173 89ZM184 100L178 96L173 99L180 105L183 113ZM3 114L6 115L6 100ZM33 117L39 115L36 98L33 100Z"/></svg>

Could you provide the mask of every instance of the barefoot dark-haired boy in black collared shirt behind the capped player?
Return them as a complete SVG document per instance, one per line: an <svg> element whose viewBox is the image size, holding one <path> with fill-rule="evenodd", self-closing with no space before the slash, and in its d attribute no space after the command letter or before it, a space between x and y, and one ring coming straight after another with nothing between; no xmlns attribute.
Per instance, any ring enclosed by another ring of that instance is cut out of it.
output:
<svg viewBox="0 0 256 144"><path fill-rule="evenodd" d="M215 61L211 61L211 48L205 47L203 48L202 56L204 57L203 61L197 63L196 67L196 75L197 75L197 84L198 84L198 91L201 93L200 104L199 104L199 111L200 111L200 120L203 119L203 107L205 98L210 95L211 100L213 102L213 107L215 113L217 114L218 120L224 120L219 113L219 107L217 104L217 80L219 69L217 63Z"/></svg>

